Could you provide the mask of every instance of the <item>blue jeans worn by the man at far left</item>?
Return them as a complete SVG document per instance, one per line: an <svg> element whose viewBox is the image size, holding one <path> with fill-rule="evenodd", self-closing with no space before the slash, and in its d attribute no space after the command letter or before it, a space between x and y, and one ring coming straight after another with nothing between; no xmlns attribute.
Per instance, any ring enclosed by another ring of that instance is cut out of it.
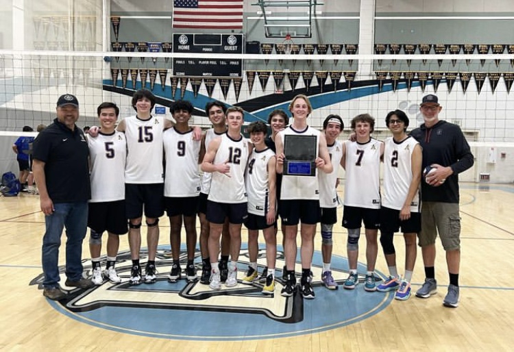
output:
<svg viewBox="0 0 514 352"><path fill-rule="evenodd" d="M86 237L88 202L57 203L53 214L45 216L46 231L42 243L42 269L45 288L58 287L59 247L62 229L66 227L66 277L82 279L82 241Z"/></svg>

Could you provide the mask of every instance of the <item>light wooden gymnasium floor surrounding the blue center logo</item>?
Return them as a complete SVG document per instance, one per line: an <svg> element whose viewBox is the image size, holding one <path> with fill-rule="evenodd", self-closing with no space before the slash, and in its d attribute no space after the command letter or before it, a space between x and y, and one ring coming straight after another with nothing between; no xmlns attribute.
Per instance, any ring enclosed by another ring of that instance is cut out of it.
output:
<svg viewBox="0 0 514 352"><path fill-rule="evenodd" d="M169 223L161 218L159 280L130 288L104 283L72 292L64 303L42 297L38 285L41 238L45 228L37 196L0 199L0 349L2 351L511 351L514 323L514 187L461 184L461 301L443 307L448 286L438 242L439 291L430 299L395 301L392 294L315 287L313 301L264 297L258 286L238 284L219 294L199 284L169 284ZM341 218L342 210L339 210ZM143 228L143 234L145 229ZM184 236L183 236L184 237ZM145 236L143 236L145 238ZM243 243L246 232L243 231ZM282 236L279 235L278 242ZM334 227L336 279L347 276L346 231ZM65 236L62 238L64 246ZM86 241L85 241L86 242ZM143 247L145 246L143 240ZM320 237L316 238L315 281L321 275ZM402 237L395 236L397 264L404 270ZM105 247L105 245L104 245ZM360 240L359 262L365 262ZM126 238L117 267L123 277L130 262ZM387 274L379 249L378 274ZM238 266L245 271L242 251ZM263 253L263 252L262 252ZM64 265L61 251L60 264ZM84 268L90 262L84 244ZM143 259L143 258L142 258ZM263 260L263 259L262 259ZM261 261L262 261L261 260ZM263 262L260 262L263 263ZM277 268L282 267L278 260ZM297 266L299 268L299 266ZM363 274L364 266L359 266ZM280 271L278 271L280 275ZM413 291L424 280L421 251ZM64 280L61 281L61 284Z"/></svg>

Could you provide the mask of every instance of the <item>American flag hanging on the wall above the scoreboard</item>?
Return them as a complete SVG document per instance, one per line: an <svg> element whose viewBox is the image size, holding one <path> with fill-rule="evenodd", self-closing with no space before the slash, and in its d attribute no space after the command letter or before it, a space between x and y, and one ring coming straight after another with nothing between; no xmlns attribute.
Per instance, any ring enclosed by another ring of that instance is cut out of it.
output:
<svg viewBox="0 0 514 352"><path fill-rule="evenodd" d="M242 29L243 0L173 0L173 28Z"/></svg>

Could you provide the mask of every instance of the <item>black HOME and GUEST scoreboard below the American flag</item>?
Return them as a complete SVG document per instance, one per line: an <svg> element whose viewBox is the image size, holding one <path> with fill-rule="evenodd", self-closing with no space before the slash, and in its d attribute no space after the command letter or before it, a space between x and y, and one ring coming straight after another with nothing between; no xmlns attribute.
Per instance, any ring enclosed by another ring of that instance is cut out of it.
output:
<svg viewBox="0 0 514 352"><path fill-rule="evenodd" d="M174 53L243 53L243 34L173 34ZM241 59L173 59L173 75L243 77Z"/></svg>

